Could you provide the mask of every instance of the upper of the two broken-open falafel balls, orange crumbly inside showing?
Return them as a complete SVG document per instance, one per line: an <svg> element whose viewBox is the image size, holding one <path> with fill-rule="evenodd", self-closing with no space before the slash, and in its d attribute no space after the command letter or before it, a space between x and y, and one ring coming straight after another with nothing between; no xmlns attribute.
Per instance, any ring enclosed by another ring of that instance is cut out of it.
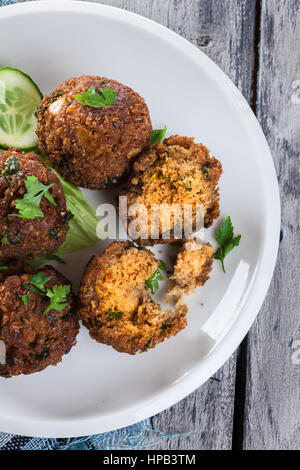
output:
<svg viewBox="0 0 300 470"><path fill-rule="evenodd" d="M133 165L127 187L121 196L127 196L128 207L143 204L148 213L145 222L139 227L139 233L151 234L151 206L165 204L158 214L158 236L151 239L141 236L140 245L176 242L174 236L177 226L184 227L184 205L191 205L190 224L196 225L197 205L202 206L204 225L209 227L219 216L219 188L222 165L203 144L197 144L193 138L173 135L162 143L154 145L144 152ZM167 206L173 207L169 212ZM128 217L128 227L133 217ZM144 225L144 226L143 226ZM155 221L153 224L155 226ZM130 232L128 232L130 236Z"/></svg>

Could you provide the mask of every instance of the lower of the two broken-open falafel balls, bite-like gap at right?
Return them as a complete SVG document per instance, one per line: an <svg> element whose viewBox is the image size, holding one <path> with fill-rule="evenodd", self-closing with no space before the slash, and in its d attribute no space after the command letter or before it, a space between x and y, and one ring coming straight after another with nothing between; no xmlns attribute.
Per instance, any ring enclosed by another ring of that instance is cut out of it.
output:
<svg viewBox="0 0 300 470"><path fill-rule="evenodd" d="M114 242L91 260L81 281L79 314L92 338L136 354L185 328L185 309L162 311L145 285L158 265L150 251L130 242Z"/></svg>

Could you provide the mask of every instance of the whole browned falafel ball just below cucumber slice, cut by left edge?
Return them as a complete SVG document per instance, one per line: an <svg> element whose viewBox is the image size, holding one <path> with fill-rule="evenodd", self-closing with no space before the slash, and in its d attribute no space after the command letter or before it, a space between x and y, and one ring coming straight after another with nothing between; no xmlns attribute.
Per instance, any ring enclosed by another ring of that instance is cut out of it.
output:
<svg viewBox="0 0 300 470"><path fill-rule="evenodd" d="M43 187L36 183L49 186L45 194L50 200L43 196L38 206L40 215L28 219L20 215L16 201L24 200L28 192L25 183L33 176L38 182L34 178L31 196L28 201L25 199L27 206L38 205L36 195ZM38 155L25 155L17 149L0 150L0 259L56 251L66 239L70 218L59 179L39 161Z"/></svg>

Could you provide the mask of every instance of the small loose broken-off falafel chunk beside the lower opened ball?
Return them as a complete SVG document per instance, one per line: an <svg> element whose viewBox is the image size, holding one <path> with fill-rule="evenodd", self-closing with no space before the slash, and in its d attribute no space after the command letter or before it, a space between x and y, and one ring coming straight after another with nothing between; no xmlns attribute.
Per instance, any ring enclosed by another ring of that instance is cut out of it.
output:
<svg viewBox="0 0 300 470"><path fill-rule="evenodd" d="M169 277L170 287L164 297L165 302L175 301L175 305L183 305L183 297L194 292L197 286L203 286L209 279L214 260L214 249L207 243L203 245L194 238L187 240L181 247Z"/></svg>

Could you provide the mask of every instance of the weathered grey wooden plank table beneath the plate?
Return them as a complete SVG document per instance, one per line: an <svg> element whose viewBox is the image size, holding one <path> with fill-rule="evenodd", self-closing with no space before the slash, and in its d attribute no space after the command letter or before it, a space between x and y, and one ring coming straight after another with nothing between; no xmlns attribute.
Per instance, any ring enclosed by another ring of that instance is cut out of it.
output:
<svg viewBox="0 0 300 470"><path fill-rule="evenodd" d="M152 448L299 449L300 0L96 3L167 26L225 71L262 125L281 190L283 239L257 321L215 377L153 418L166 433L192 433Z"/></svg>

